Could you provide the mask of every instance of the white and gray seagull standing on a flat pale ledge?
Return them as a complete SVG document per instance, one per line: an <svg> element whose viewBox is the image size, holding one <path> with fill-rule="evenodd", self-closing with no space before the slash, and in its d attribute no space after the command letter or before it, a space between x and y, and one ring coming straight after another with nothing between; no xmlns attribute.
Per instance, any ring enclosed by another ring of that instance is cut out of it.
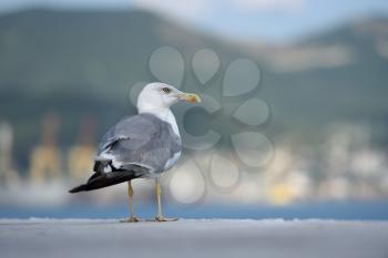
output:
<svg viewBox="0 0 388 258"><path fill-rule="evenodd" d="M137 97L137 115L122 118L111 127L99 144L94 158L94 174L86 184L69 193L94 190L127 182L130 217L124 221L139 221L133 211L135 178L154 178L157 203L156 221L171 221L162 213L160 176L180 159L182 140L171 106L178 101L201 102L197 94L184 93L172 85L154 82L144 86Z"/></svg>

